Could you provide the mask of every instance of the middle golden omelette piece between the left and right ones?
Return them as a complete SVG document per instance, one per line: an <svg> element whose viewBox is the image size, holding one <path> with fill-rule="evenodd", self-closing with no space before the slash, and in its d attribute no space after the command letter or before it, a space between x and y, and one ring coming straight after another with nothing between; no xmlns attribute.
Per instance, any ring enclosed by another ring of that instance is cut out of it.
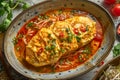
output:
<svg viewBox="0 0 120 80"><path fill-rule="evenodd" d="M78 49L77 40L73 35L71 25L65 21L58 21L50 26L50 29L60 40L60 48L63 55L70 54Z"/></svg>

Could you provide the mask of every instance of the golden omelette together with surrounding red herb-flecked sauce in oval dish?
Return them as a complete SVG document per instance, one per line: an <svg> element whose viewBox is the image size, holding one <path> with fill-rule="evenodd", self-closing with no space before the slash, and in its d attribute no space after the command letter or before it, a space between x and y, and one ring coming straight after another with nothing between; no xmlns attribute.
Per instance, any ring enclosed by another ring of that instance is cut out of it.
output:
<svg viewBox="0 0 120 80"><path fill-rule="evenodd" d="M73 69L89 60L103 40L102 25L78 9L51 10L27 21L13 39L18 60L40 73Z"/></svg>

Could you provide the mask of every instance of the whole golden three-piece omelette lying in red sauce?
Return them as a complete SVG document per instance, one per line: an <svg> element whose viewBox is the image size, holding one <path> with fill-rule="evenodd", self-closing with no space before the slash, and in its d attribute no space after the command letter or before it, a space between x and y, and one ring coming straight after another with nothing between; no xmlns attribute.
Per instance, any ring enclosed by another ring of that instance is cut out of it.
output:
<svg viewBox="0 0 120 80"><path fill-rule="evenodd" d="M26 61L35 67L55 64L92 41L95 25L87 16L75 16L43 27L27 44Z"/></svg>

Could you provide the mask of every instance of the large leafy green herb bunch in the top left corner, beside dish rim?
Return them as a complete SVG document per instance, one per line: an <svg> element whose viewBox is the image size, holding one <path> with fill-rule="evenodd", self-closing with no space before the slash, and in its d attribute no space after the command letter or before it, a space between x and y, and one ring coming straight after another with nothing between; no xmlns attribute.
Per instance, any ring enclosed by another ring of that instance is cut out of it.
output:
<svg viewBox="0 0 120 80"><path fill-rule="evenodd" d="M13 10L17 7L27 9L30 5L23 0L0 0L0 17L4 17L0 23L0 32L5 32L12 21Z"/></svg>

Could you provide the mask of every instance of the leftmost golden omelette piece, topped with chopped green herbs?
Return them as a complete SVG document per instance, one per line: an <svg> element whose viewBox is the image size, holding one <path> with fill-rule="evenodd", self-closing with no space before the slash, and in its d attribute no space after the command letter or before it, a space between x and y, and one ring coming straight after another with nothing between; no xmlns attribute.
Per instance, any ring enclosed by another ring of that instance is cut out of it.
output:
<svg viewBox="0 0 120 80"><path fill-rule="evenodd" d="M54 64L62 53L56 36L47 28L42 28L26 46L26 61L35 67Z"/></svg>

